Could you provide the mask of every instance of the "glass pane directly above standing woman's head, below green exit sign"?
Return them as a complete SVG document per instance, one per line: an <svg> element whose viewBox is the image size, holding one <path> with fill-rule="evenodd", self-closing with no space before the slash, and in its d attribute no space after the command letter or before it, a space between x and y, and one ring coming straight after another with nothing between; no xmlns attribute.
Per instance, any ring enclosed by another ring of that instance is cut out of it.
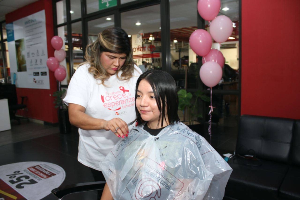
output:
<svg viewBox="0 0 300 200"><path fill-rule="evenodd" d="M104 29L114 26L115 23L113 15L88 21L88 43L94 42L98 38L98 34Z"/></svg>

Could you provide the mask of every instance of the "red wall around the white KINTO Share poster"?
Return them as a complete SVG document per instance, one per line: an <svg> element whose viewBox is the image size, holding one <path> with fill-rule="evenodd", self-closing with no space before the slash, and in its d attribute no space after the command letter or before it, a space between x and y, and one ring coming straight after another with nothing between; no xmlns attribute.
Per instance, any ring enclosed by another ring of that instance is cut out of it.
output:
<svg viewBox="0 0 300 200"><path fill-rule="evenodd" d="M46 35L47 35L47 51L48 57L53 56L54 49L51 46L51 38L53 33L53 13L51 0L40 0L29 4L23 8L13 11L5 15L6 23L11 23L38 11L45 10L46 16ZM57 90L54 72L49 71L50 89L29 89L17 88L18 101L19 96L27 96L25 101L28 111L20 111L18 114L29 118L42 120L50 123L57 123L57 110L54 108L53 92Z"/></svg>

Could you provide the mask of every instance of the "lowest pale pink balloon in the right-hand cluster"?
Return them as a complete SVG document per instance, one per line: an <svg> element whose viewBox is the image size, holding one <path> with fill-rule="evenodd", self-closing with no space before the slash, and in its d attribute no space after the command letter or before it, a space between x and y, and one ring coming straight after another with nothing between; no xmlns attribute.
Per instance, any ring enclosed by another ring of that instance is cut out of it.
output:
<svg viewBox="0 0 300 200"><path fill-rule="evenodd" d="M216 86L222 78L222 68L216 62L205 62L200 68L200 78L208 87Z"/></svg>

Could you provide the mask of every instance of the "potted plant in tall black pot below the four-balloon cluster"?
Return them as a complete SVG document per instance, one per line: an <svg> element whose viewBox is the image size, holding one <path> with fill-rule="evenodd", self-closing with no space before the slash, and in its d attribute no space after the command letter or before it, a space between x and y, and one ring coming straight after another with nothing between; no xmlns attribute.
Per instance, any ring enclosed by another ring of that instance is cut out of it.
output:
<svg viewBox="0 0 300 200"><path fill-rule="evenodd" d="M70 133L71 132L71 124L69 121L69 113L67 105L62 101L62 97L65 94L66 90L55 91L53 93L55 108L58 108L58 124L59 124L59 132L60 133Z"/></svg>

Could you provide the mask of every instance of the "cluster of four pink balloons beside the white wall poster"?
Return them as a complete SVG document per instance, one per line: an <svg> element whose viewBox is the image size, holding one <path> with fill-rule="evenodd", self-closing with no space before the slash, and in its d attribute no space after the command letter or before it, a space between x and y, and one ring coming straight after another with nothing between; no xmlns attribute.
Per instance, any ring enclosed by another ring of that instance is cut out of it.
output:
<svg viewBox="0 0 300 200"><path fill-rule="evenodd" d="M66 52L61 49L63 44L64 42L61 37L54 36L51 39L51 45L55 49L54 57L47 59L47 67L50 71L54 71L54 77L58 81L64 80L67 75L66 68L63 65L59 65L59 62L63 61L66 57Z"/></svg>

